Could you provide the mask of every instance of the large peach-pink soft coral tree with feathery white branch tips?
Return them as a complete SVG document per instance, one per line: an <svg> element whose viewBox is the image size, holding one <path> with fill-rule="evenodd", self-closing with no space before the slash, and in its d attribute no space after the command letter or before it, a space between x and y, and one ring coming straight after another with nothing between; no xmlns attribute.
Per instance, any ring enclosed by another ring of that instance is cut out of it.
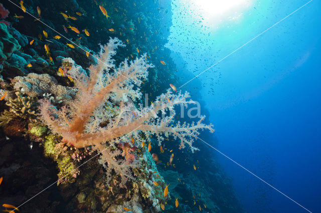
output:
<svg viewBox="0 0 321 213"><path fill-rule="evenodd" d="M50 101L42 100L42 119L64 141L78 148L94 145L102 150L106 143L116 147L122 141L130 141L130 137L140 146L143 138L150 140L147 135L151 134L156 135L159 144L164 136L173 135L181 140L181 148L188 144L192 151L196 150L192 143L199 134L198 130L206 128L213 131L213 128L202 123L204 117L197 123L174 124L174 106L194 103L187 99L189 94L173 93L168 89L149 107L139 105L136 108L130 99L135 101L141 98L139 85L146 79L147 69L153 66L147 63L143 54L134 61L128 63L125 60L116 67L112 56L118 46L124 46L118 38L110 38L107 45L101 46L101 51L96 55L99 58L97 63L88 68L89 75L71 58L66 58L72 64L68 75L75 79L78 90L76 97L59 109ZM167 116L161 117L160 114ZM142 137L142 134L145 136ZM111 160L115 159L115 151L105 151L103 155L108 167L110 163L111 167L119 167L119 163ZM121 172L121 169L118 171ZM130 175L127 172L124 176Z"/></svg>

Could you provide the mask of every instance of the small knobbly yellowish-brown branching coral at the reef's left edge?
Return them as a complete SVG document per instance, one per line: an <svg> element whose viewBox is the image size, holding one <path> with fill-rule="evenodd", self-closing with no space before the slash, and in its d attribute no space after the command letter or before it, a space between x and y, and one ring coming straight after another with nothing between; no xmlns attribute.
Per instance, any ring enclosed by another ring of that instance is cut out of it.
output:
<svg viewBox="0 0 321 213"><path fill-rule="evenodd" d="M9 98L6 105L10 106L10 111L24 119L35 119L38 113L38 102L36 98L23 96L20 91L15 92L17 98Z"/></svg>

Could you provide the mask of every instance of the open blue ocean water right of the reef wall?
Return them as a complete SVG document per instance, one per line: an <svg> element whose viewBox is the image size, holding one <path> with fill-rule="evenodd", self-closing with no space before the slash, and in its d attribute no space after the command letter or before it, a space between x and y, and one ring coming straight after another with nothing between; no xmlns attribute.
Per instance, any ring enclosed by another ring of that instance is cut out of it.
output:
<svg viewBox="0 0 321 213"><path fill-rule="evenodd" d="M307 2L248 0L213 17L204 10L212 6L214 13L223 3L173 1L168 47L183 81L186 71L201 73L198 80L185 78L182 89L206 102L217 141L207 142L319 212L321 3L301 7ZM247 212L307 212L226 156L213 154Z"/></svg>

